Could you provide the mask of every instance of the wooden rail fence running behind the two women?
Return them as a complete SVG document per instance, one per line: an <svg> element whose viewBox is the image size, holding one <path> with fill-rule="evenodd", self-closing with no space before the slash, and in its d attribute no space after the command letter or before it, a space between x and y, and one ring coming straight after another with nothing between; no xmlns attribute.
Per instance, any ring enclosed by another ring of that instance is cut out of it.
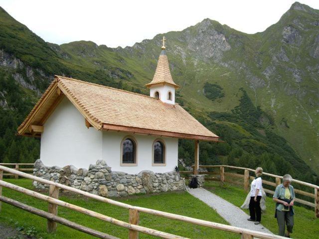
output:
<svg viewBox="0 0 319 239"><path fill-rule="evenodd" d="M218 171L210 171L210 172L200 172L199 174L207 174L207 175L212 175L213 177L205 177L205 180L213 180L213 181L220 181L220 182L229 182L232 184L237 184L237 185L243 185L244 186L244 191L248 192L249 190L249 180L253 180L253 176L249 176L249 172L255 172L255 169L251 168L243 168L243 167L236 167L236 166L228 166L228 165L199 165L199 168L216 168ZM225 168L229 169L236 169L236 170L243 170L243 174L238 174L238 173L231 173L231 172L225 172ZM192 171L180 171L180 173L185 173L185 174L192 174ZM281 179L283 178L282 176L271 174L271 173L263 173L265 176L269 176L270 178L274 178L275 182L267 181L263 179L263 184L266 184L271 187L277 187L279 184L281 184ZM218 176L218 177L216 177ZM233 181L231 180L232 178L239 178L243 179L241 181ZM314 203L302 200L299 198L296 198L296 202L301 203L303 205L307 205L310 207L315 208L315 214L316 217L319 218L319 186L303 181L299 181L296 179L293 179L294 183L297 183L302 186L310 187L312 190L314 190L314 193L306 192L300 189L295 189L296 194L304 195L307 196L308 198L314 199ZM264 191L266 193L274 195L274 191L270 189L264 188Z"/></svg>

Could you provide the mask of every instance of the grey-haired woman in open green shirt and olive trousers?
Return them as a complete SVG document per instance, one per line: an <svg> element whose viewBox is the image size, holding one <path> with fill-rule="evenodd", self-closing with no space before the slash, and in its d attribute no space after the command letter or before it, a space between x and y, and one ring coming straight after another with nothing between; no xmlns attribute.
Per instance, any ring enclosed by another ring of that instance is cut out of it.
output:
<svg viewBox="0 0 319 239"><path fill-rule="evenodd" d="M294 227L294 201L295 191L294 187L290 185L293 178L286 174L283 176L283 183L276 187L273 200L276 202L276 213L279 236L290 238ZM285 224L287 225L287 234L285 235Z"/></svg>

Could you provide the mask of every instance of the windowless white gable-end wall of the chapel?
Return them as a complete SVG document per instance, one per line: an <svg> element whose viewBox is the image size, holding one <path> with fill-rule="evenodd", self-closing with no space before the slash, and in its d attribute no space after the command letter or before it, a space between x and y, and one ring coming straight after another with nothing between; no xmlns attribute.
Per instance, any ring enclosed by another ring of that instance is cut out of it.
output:
<svg viewBox="0 0 319 239"><path fill-rule="evenodd" d="M65 97L44 124L40 159L46 166L88 168L102 159L102 132L87 128L84 117Z"/></svg>

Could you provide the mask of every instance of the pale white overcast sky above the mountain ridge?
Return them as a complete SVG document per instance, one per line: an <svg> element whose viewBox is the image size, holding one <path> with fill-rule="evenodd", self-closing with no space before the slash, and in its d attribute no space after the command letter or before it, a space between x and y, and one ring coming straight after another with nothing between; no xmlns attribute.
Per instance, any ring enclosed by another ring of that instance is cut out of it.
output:
<svg viewBox="0 0 319 239"><path fill-rule="evenodd" d="M0 6L48 42L90 40L132 46L205 18L246 33L276 23L294 0L0 0ZM319 9L319 0L300 0ZM167 39L169 40L169 39Z"/></svg>

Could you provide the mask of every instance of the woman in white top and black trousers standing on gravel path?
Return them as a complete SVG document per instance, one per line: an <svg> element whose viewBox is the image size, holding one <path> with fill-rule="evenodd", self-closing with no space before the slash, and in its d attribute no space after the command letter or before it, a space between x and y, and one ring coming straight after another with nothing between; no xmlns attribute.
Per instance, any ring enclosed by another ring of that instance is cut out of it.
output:
<svg viewBox="0 0 319 239"><path fill-rule="evenodd" d="M261 221L261 208L260 200L262 197L262 179L263 169L261 167L256 168L256 177L251 183L250 188L250 202L249 202L249 213L250 218L248 221L254 221L256 225L260 224Z"/></svg>

